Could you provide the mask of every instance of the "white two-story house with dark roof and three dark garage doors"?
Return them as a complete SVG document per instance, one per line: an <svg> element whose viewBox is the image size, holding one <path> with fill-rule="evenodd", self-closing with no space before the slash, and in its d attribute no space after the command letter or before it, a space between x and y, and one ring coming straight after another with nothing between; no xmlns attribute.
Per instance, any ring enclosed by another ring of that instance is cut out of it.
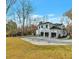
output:
<svg viewBox="0 0 79 59"><path fill-rule="evenodd" d="M38 24L38 29L36 30L36 35L49 38L58 38L67 35L65 26L59 23L51 22L40 22Z"/></svg>

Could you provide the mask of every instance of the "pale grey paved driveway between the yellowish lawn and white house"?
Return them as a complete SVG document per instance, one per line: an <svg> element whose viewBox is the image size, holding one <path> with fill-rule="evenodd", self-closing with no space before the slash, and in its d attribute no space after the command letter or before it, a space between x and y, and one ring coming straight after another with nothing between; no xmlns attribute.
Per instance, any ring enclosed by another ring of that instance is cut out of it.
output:
<svg viewBox="0 0 79 59"><path fill-rule="evenodd" d="M22 37L21 39L35 45L72 45L72 40L71 39L68 40L67 38L56 39L56 38L26 36Z"/></svg>

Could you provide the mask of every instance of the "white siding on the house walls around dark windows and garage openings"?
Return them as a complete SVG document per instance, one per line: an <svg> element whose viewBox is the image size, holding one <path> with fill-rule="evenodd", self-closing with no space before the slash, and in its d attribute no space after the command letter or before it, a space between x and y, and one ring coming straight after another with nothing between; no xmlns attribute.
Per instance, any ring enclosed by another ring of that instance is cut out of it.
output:
<svg viewBox="0 0 79 59"><path fill-rule="evenodd" d="M48 25L48 28L46 28L46 25ZM41 26L43 26L43 28L41 28ZM41 32L44 32L44 36L43 36L43 37L45 37L45 32L48 32L48 33L49 33L49 38L51 37L51 33L56 33L56 38L58 38L59 34L60 34L61 36L66 35L66 33L63 34L63 30L59 30L59 29L51 29L51 30L50 30L50 28L51 28L52 26L53 26L53 25L50 24L50 23L41 24L40 26L38 26L38 30L36 31L36 34L37 34L37 35L40 35ZM39 28L39 27L40 27L40 28ZM62 25L62 26L60 26L60 28L63 29L64 26Z"/></svg>

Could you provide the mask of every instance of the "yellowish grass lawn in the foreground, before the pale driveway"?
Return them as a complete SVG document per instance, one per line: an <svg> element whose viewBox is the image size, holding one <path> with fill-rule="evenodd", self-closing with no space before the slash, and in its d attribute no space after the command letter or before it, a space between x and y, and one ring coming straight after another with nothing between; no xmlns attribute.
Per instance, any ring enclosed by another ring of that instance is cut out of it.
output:
<svg viewBox="0 0 79 59"><path fill-rule="evenodd" d="M37 46L19 37L6 39L7 59L72 59L71 46Z"/></svg>

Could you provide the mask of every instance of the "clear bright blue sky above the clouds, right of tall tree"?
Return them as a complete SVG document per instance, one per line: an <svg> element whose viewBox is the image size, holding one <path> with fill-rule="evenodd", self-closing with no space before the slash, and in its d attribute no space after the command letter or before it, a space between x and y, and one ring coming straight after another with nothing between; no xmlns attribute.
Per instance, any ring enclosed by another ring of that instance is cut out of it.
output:
<svg viewBox="0 0 79 59"><path fill-rule="evenodd" d="M31 0L35 14L62 15L72 8L72 0Z"/></svg>

